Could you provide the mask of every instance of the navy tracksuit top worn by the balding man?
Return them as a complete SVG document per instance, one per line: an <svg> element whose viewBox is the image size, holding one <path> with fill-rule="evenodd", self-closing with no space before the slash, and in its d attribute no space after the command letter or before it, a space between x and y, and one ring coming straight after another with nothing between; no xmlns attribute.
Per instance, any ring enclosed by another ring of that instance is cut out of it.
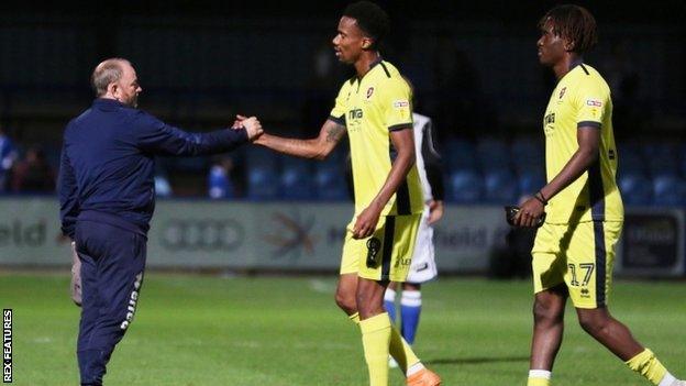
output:
<svg viewBox="0 0 686 386"><path fill-rule="evenodd" d="M65 129L58 179L62 230L74 240L81 219L145 235L155 208L155 155L222 153L245 142L245 129L188 133L98 98Z"/></svg>

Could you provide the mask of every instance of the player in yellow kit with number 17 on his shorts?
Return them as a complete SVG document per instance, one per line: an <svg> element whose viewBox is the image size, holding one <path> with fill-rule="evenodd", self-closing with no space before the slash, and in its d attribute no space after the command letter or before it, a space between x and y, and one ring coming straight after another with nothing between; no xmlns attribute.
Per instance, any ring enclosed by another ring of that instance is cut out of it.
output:
<svg viewBox="0 0 686 386"><path fill-rule="evenodd" d="M532 250L535 299L528 385L550 385L571 298L584 330L631 370L654 385L686 386L607 306L623 207L615 181L610 90L583 59L596 43L596 22L582 7L558 5L539 26L539 59L553 69L557 86L543 118L547 184L514 219L532 227L546 212Z"/></svg>

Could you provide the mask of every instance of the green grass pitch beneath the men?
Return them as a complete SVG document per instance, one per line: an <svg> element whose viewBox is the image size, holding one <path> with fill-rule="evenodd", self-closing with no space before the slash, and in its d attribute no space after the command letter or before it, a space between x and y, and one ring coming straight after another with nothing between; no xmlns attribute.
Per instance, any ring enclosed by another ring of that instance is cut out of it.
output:
<svg viewBox="0 0 686 386"><path fill-rule="evenodd" d="M79 310L68 278L0 275L14 310L14 384L76 385ZM106 384L365 385L358 330L333 302L335 277L219 278L148 274L139 310ZM524 385L529 282L443 278L424 287L414 349L444 385ZM613 315L686 376L686 285L618 282ZM587 337L567 309L556 385L646 385ZM391 371L391 385L403 385Z"/></svg>

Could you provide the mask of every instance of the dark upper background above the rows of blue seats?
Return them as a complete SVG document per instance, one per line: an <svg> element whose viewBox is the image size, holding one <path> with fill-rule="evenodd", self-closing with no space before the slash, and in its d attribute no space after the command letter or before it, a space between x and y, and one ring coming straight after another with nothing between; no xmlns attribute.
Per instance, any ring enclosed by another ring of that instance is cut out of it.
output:
<svg viewBox="0 0 686 386"><path fill-rule="evenodd" d="M267 130L312 135L350 69L330 41L341 1L3 2L0 123L58 153L65 123L92 99L101 59L137 68L141 107L192 130L257 114ZM440 136L535 135L554 85L535 55L552 1L379 1L392 20L383 49L413 81ZM587 62L612 87L616 132L686 134L684 1L583 1L599 24Z"/></svg>

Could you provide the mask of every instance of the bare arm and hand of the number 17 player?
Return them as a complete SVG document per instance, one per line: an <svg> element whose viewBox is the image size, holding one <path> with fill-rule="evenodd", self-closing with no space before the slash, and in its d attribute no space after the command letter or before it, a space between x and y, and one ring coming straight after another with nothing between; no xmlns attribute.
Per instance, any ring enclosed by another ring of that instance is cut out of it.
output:
<svg viewBox="0 0 686 386"><path fill-rule="evenodd" d="M550 200L562 189L574 183L584 174L593 163L598 159L598 147L600 142L600 130L593 126L580 126L576 131L576 141L579 148L547 185L536 195L527 200L519 213L514 218L514 224L519 227L533 227L536 219L543 214L545 208L543 201ZM542 196L542 197L541 197Z"/></svg>

